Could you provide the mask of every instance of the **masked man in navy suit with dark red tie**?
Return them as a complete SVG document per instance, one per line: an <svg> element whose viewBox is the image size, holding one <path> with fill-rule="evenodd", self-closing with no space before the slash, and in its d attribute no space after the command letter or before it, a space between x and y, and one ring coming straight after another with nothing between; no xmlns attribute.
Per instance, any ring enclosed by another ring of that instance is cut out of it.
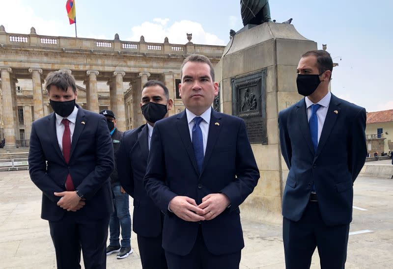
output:
<svg viewBox="0 0 393 269"><path fill-rule="evenodd" d="M109 176L114 167L107 120L75 104L74 78L53 72L46 89L54 113L33 122L28 154L31 181L42 190L57 268L106 268Z"/></svg>

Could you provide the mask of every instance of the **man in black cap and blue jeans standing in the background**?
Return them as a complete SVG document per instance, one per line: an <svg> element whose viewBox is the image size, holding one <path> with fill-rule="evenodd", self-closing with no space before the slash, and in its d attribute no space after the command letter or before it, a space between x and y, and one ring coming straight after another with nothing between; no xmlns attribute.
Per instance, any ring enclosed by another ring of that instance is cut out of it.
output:
<svg viewBox="0 0 393 269"><path fill-rule="evenodd" d="M103 109L101 115L107 118L108 129L112 136L114 163L117 163L117 152L120 148L123 132L117 130L116 117L112 110ZM109 219L109 245L107 255L117 253L117 259L127 258L133 252L131 247L131 216L128 194L120 186L116 167L111 175L111 187L113 196L114 212ZM121 244L119 236L121 230Z"/></svg>

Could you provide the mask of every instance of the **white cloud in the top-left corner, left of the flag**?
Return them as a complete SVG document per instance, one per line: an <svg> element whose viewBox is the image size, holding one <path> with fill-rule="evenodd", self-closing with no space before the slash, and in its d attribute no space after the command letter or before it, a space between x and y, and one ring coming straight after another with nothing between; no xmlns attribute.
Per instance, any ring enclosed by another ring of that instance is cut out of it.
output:
<svg viewBox="0 0 393 269"><path fill-rule="evenodd" d="M65 13L65 12L64 12ZM67 19L64 16L64 19ZM34 27L37 34L41 35L58 35L60 26L55 21L48 21L39 18L32 8L24 5L20 0L7 1L1 3L0 25L5 27L9 33L29 34L30 28Z"/></svg>

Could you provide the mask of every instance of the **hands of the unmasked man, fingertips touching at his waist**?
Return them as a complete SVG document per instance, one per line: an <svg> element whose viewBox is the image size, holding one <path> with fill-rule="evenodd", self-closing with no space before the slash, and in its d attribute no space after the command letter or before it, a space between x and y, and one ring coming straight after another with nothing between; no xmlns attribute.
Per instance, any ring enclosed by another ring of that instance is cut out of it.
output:
<svg viewBox="0 0 393 269"><path fill-rule="evenodd" d="M223 213L229 206L228 196L223 193L211 193L202 198L197 205L194 199L187 196L175 196L169 202L169 209L186 221L211 220Z"/></svg>

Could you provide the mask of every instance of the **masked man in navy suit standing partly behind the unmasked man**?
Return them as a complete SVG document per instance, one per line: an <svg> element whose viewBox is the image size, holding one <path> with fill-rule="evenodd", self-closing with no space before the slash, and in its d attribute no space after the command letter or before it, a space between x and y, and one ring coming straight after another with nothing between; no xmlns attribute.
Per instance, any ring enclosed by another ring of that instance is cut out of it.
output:
<svg viewBox="0 0 393 269"><path fill-rule="evenodd" d="M140 107L147 123L127 131L117 155L117 170L121 186L134 198L134 225L143 269L167 269L162 248L164 214L147 196L143 187L150 139L156 121L168 117L173 101L161 81L143 85Z"/></svg>

